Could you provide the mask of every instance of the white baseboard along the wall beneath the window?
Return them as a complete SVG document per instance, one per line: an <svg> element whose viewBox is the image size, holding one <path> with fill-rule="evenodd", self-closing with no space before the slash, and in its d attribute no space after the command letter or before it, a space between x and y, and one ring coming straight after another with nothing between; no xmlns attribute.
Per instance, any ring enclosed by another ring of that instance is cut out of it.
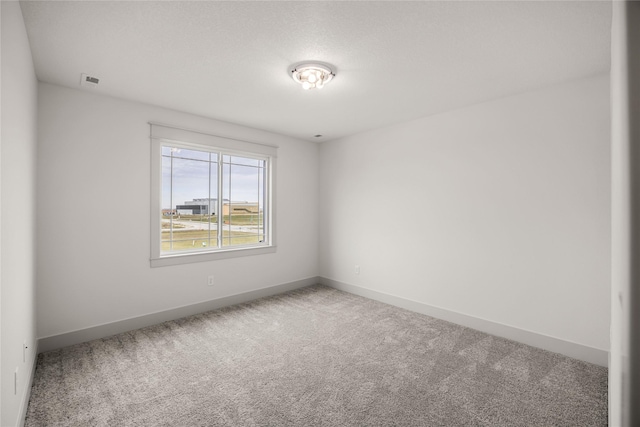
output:
<svg viewBox="0 0 640 427"><path fill-rule="evenodd" d="M174 308L171 310L146 314L143 316L133 317L117 322L67 332L60 335L44 337L38 340L38 349L40 350L40 352L56 350L62 347L80 344L82 342L87 342L99 338L105 338L123 332L132 331L134 329L157 325L158 323L176 320L194 314L204 313L230 305L241 304L243 302L252 301L258 298L281 294L283 292L304 288L318 283L320 283L319 277L310 277L308 279L297 280L295 282L284 283L281 285L269 286L266 288L231 295L228 297L217 298L198 304L192 304Z"/></svg>

